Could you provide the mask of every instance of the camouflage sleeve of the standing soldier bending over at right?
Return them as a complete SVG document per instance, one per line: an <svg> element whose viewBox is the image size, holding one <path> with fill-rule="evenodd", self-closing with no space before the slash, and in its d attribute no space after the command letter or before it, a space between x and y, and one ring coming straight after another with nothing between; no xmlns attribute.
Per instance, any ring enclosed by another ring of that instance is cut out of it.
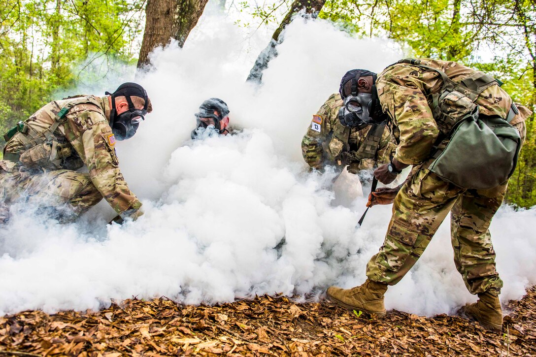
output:
<svg viewBox="0 0 536 357"><path fill-rule="evenodd" d="M425 86L426 79L411 66L404 65L387 68L376 82L382 108L396 127L394 136L398 146L394 158L407 165L417 165L428 158L439 135L424 94Z"/></svg>

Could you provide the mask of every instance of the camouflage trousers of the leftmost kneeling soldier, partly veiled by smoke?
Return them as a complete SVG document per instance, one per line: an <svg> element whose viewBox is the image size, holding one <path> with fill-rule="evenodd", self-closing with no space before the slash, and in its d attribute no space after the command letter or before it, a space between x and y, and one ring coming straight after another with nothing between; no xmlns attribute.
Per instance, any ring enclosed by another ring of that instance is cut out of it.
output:
<svg viewBox="0 0 536 357"><path fill-rule="evenodd" d="M0 211L25 202L49 209L62 221L75 219L102 199L89 174L65 169L28 170L20 163L2 160L0 187Z"/></svg>

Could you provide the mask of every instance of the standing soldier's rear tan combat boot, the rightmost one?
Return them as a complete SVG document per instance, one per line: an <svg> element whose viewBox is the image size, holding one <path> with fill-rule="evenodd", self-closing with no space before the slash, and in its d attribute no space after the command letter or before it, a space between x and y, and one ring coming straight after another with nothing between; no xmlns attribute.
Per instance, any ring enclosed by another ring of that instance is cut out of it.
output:
<svg viewBox="0 0 536 357"><path fill-rule="evenodd" d="M478 321L483 328L494 331L502 330L501 302L497 295L489 292L478 294L478 301L466 304L459 312Z"/></svg>

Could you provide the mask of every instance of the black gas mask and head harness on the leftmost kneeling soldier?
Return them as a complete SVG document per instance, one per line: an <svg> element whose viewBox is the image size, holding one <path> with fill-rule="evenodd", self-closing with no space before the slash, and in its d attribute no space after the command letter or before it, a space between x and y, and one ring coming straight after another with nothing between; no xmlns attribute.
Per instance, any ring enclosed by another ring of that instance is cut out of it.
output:
<svg viewBox="0 0 536 357"><path fill-rule="evenodd" d="M111 95L111 111L110 111L110 127L111 131L117 140L130 139L138 130L140 122L145 120L145 114L147 114L148 96L147 92L142 86L137 83L123 83L120 85L114 93L106 92L107 95ZM129 104L129 110L124 111L121 114L117 114L115 108L115 99L118 96L124 96L126 102ZM133 103L131 96L139 96L145 100L143 109L137 109Z"/></svg>

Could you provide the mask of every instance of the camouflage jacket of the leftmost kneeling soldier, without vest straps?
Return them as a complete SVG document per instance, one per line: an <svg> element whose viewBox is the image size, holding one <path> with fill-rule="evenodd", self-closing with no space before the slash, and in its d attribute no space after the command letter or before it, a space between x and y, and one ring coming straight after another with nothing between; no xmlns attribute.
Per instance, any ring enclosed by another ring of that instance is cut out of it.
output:
<svg viewBox="0 0 536 357"><path fill-rule="evenodd" d="M91 102L73 106L54 131L55 138L65 146L70 155L64 162L79 162L79 165L74 167L70 165L59 168L78 169L85 164L91 181L117 213L137 210L142 203L130 191L119 169L115 137L107 119L110 117L108 97L87 96L87 98ZM59 110L75 100L80 98L48 103L29 117L26 125L38 132L47 130L54 123ZM16 133L6 144L5 152L13 154L24 152L26 148L23 136L23 133ZM50 168L44 167L44 169Z"/></svg>

